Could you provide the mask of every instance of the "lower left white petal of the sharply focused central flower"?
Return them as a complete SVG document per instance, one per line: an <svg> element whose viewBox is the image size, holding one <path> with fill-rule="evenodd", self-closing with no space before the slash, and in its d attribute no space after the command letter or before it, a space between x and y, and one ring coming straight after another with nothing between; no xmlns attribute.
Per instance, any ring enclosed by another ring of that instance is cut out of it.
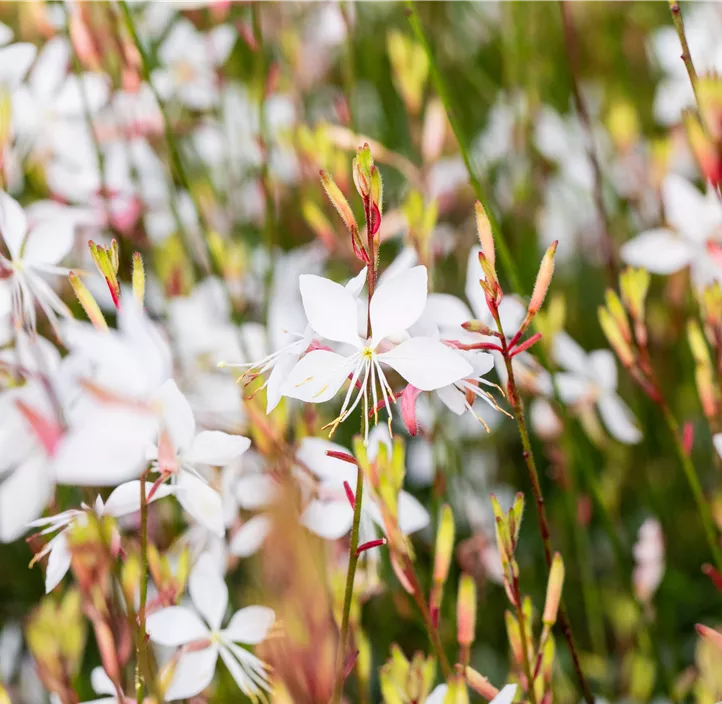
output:
<svg viewBox="0 0 722 704"><path fill-rule="evenodd" d="M307 403L328 401L353 372L356 363L354 357L343 357L328 350L313 350L302 357L286 377L283 394Z"/></svg>

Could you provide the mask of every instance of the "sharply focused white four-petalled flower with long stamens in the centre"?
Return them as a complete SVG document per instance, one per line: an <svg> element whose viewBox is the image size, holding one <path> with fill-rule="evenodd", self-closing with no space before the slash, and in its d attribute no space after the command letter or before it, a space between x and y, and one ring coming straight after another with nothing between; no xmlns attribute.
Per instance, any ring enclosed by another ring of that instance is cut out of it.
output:
<svg viewBox="0 0 722 704"><path fill-rule="evenodd" d="M373 408L382 405L391 418L394 393L382 364L396 370L421 391L433 391L468 377L471 365L456 351L431 337L408 337L406 331L421 317L426 307L426 267L417 266L384 281L369 305L371 336L358 334L354 296L340 284L319 276L300 278L301 296L309 324L322 338L344 343L351 353L327 349L309 352L286 378L283 393L309 403L333 398L347 377L351 377L346 397L333 426L343 422L363 400L365 436L368 439L369 386ZM400 344L393 341L406 338ZM384 351L382 351L384 350ZM351 402L357 382L360 389ZM370 382L370 383L369 383Z"/></svg>

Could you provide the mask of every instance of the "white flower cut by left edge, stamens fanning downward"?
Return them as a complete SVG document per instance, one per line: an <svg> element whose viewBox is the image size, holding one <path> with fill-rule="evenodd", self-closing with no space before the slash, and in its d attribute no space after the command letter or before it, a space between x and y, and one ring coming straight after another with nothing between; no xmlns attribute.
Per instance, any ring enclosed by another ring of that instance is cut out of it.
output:
<svg viewBox="0 0 722 704"><path fill-rule="evenodd" d="M28 227L22 206L0 191L0 234L10 258L0 254L0 268L9 269L12 278L12 310L16 324L35 330L37 303L58 333L58 316L72 318L63 303L41 274L67 275L58 267L73 246L75 222L72 217L44 218ZM2 293L0 291L0 293Z"/></svg>

